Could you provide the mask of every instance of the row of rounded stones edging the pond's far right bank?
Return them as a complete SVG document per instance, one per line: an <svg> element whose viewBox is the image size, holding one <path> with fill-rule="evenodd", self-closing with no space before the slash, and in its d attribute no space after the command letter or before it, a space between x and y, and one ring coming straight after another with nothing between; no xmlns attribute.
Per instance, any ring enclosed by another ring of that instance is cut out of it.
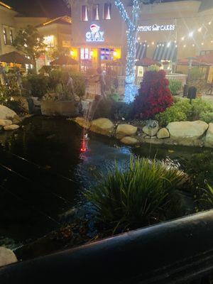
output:
<svg viewBox="0 0 213 284"><path fill-rule="evenodd" d="M94 133L114 136L126 145L155 143L213 148L213 124L204 121L176 121L160 128L157 121L153 125L135 126L114 124L105 118L87 121L84 117L77 117L70 120Z"/></svg>

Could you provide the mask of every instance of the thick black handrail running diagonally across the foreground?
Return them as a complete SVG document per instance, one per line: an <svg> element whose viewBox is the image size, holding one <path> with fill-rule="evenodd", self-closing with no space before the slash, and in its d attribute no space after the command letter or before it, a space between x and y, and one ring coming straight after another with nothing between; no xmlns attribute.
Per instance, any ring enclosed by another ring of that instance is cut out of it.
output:
<svg viewBox="0 0 213 284"><path fill-rule="evenodd" d="M212 273L210 210L6 266L0 283L190 284Z"/></svg>

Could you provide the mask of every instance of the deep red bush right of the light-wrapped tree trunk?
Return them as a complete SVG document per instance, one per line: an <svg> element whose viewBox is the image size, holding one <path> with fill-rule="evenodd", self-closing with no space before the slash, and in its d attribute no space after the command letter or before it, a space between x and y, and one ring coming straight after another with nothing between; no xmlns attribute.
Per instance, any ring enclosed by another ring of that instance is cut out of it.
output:
<svg viewBox="0 0 213 284"><path fill-rule="evenodd" d="M134 100L134 114L141 119L151 119L173 104L173 96L165 78L165 71L144 73L141 88Z"/></svg>

